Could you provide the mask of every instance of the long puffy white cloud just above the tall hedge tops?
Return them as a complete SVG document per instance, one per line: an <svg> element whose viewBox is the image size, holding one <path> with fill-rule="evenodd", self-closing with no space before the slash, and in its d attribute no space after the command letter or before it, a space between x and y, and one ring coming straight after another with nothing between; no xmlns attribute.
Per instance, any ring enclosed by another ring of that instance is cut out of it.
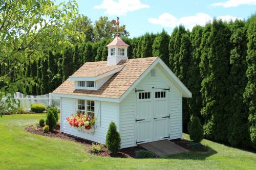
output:
<svg viewBox="0 0 256 170"><path fill-rule="evenodd" d="M225 21L243 19L237 16L218 16L217 19ZM194 26L204 26L206 22L211 21L213 18L205 13L197 13L196 16L185 16L177 18L169 13L163 13L158 18L148 18L148 22L155 25L161 25L163 27L175 28L176 26L183 25L185 28L192 30Z"/></svg>

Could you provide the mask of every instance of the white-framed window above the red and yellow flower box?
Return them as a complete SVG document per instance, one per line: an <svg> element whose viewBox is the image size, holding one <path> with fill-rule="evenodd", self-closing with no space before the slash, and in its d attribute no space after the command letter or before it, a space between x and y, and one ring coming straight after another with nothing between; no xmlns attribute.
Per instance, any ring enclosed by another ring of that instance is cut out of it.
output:
<svg viewBox="0 0 256 170"><path fill-rule="evenodd" d="M94 101L78 99L77 112L80 114L88 114L90 116L94 116Z"/></svg>

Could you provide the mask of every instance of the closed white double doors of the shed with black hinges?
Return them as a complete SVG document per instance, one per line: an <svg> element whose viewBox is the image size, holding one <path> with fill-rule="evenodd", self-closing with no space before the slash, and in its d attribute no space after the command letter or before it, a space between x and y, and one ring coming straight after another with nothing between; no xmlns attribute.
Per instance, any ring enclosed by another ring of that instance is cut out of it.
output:
<svg viewBox="0 0 256 170"><path fill-rule="evenodd" d="M136 91L137 143L169 138L168 90Z"/></svg>

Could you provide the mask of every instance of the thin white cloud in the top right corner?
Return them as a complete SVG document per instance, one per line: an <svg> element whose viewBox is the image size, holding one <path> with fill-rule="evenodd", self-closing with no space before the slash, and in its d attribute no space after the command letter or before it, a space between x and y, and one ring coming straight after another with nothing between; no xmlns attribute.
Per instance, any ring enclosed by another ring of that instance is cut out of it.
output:
<svg viewBox="0 0 256 170"><path fill-rule="evenodd" d="M222 6L224 8L237 7L239 5L256 5L256 0L228 0L225 2L211 4L212 7Z"/></svg>

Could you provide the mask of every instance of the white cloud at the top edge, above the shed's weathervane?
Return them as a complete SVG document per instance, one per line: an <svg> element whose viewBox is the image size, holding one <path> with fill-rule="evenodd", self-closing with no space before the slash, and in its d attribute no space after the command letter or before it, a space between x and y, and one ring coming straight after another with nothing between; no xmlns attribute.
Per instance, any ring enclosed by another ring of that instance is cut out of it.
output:
<svg viewBox="0 0 256 170"><path fill-rule="evenodd" d="M136 11L142 8L150 8L149 5L142 4L140 0L103 0L102 4L95 6L96 9L105 9L109 15L126 15L127 12Z"/></svg>

